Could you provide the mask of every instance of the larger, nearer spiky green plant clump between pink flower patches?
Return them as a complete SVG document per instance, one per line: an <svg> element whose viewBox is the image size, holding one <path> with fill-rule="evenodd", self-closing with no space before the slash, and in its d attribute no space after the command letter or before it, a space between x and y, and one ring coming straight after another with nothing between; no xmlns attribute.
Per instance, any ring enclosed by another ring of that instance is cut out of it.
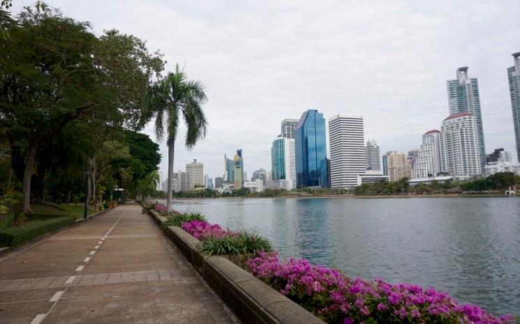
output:
<svg viewBox="0 0 520 324"><path fill-rule="evenodd" d="M258 254L271 252L269 240L253 231L240 231L225 236L210 236L202 240L202 253L207 255L223 254Z"/></svg>

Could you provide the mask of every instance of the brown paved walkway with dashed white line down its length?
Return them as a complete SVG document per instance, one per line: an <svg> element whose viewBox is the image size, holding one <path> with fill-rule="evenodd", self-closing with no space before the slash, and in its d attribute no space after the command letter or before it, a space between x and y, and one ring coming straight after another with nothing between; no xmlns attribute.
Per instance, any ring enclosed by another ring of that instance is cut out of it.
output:
<svg viewBox="0 0 520 324"><path fill-rule="evenodd" d="M0 259L0 323L235 323L137 204Z"/></svg>

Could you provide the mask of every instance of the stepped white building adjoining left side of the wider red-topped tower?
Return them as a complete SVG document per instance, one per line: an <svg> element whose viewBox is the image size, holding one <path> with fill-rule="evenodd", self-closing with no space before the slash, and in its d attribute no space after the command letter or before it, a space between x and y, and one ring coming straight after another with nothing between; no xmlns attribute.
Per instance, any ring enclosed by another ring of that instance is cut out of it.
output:
<svg viewBox="0 0 520 324"><path fill-rule="evenodd" d="M431 178L440 172L439 139L439 130L430 130L422 135L422 145L412 167L412 178Z"/></svg>

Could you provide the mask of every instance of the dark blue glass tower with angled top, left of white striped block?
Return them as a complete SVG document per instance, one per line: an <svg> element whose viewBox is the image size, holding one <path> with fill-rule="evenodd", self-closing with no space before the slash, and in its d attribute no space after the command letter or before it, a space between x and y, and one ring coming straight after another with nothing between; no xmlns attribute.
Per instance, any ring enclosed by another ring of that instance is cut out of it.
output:
<svg viewBox="0 0 520 324"><path fill-rule="evenodd" d="M309 109L299 118L295 129L296 186L321 187L322 162L327 159L325 118Z"/></svg>

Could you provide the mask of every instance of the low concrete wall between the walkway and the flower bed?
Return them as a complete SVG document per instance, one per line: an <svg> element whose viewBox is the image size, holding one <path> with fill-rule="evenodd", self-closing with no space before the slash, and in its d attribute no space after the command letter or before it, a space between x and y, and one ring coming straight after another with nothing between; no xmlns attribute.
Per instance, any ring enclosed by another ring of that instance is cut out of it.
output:
<svg viewBox="0 0 520 324"><path fill-rule="evenodd" d="M165 217L153 211L151 217L162 225ZM179 251L199 272L213 291L246 324L323 324L278 291L253 277L249 272L222 256L204 256L198 250L199 240L183 229L164 229Z"/></svg>

